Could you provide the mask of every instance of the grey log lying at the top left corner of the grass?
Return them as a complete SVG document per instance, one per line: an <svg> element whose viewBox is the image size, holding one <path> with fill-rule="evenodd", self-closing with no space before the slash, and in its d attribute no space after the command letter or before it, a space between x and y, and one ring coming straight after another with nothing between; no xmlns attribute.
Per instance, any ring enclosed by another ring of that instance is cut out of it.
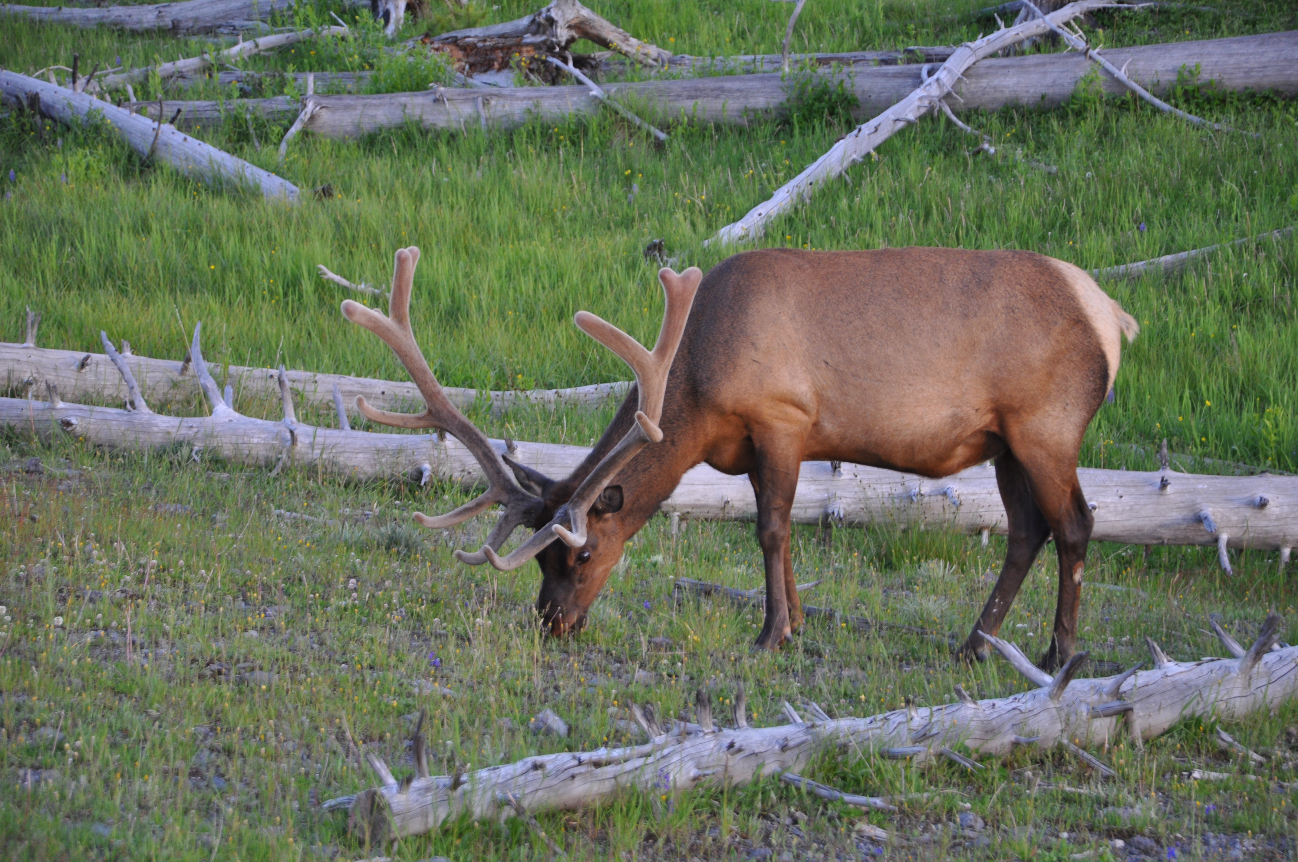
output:
<svg viewBox="0 0 1298 862"><path fill-rule="evenodd" d="M248 30L296 0L186 0L140 6L21 6L0 4L0 14L77 27L170 30L177 35Z"/></svg>

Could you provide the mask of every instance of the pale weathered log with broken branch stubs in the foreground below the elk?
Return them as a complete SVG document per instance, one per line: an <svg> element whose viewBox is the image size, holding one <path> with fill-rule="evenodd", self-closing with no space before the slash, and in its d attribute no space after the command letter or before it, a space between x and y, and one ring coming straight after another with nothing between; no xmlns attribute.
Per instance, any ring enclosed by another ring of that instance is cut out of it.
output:
<svg viewBox="0 0 1298 862"><path fill-rule="evenodd" d="M957 756L979 766L954 749L963 746L975 757L1003 757L1020 745L1041 750L1066 745L1108 769L1081 746L1110 744L1123 735L1153 739L1186 718L1231 719L1263 709L1275 711L1298 693L1298 646L1273 649L1280 623L1269 615L1258 641L1241 658L1168 661L1151 671L1132 669L1102 679L1073 679L1080 662L1072 662L1057 676L1037 671L1029 678L1036 688L1009 697L963 697L868 718L822 715L806 720L787 710L793 722L776 727L709 731L702 724L679 724L644 745L528 757L478 770L458 782L437 775L398 783L371 753L382 784L330 800L326 807L349 806L353 830L383 841L421 835L461 815L483 819L520 810L583 809L628 789L675 793L705 784L735 787L801 771L827 748L914 761ZM1002 656L1022 658L1014 645L989 640Z"/></svg>

